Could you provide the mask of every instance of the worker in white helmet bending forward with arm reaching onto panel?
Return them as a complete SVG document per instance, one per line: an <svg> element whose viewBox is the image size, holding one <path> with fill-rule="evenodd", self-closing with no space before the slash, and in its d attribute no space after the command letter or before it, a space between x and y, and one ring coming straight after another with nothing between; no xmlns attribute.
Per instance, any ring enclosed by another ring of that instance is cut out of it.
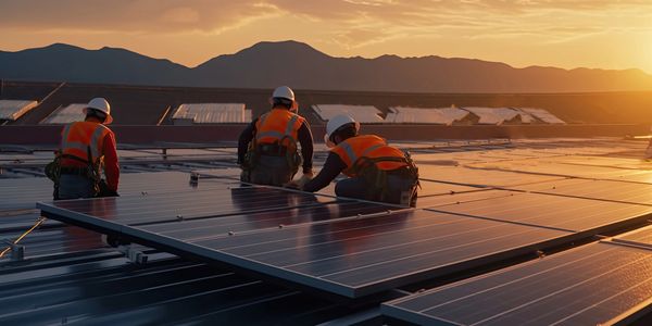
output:
<svg viewBox="0 0 652 326"><path fill-rule="evenodd" d="M418 170L409 153L374 135L360 135L360 123L348 115L328 121L324 140L331 148L319 174L306 184L291 186L314 192L328 186L340 173L350 178L335 186L339 197L414 206Z"/></svg>

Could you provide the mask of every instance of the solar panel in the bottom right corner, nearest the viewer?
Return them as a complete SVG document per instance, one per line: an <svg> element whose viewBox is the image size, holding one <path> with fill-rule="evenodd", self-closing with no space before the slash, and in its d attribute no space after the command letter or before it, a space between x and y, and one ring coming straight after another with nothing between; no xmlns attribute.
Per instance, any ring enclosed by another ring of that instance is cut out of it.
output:
<svg viewBox="0 0 652 326"><path fill-rule="evenodd" d="M383 304L419 325L612 325L652 303L652 251L592 243Z"/></svg>

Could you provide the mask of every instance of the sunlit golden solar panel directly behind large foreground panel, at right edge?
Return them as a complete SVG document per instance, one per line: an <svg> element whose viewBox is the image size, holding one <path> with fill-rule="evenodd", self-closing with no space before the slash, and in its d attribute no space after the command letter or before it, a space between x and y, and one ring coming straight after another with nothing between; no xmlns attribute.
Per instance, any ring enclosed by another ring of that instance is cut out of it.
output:
<svg viewBox="0 0 652 326"><path fill-rule="evenodd" d="M620 223L642 222L652 214L650 206L538 193L464 202L436 210L568 231L595 231Z"/></svg>

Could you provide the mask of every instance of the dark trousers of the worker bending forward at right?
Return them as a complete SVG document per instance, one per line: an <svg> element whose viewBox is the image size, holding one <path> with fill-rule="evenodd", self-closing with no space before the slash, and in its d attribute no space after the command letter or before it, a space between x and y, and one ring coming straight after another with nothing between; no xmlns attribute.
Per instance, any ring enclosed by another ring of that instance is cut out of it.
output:
<svg viewBox="0 0 652 326"><path fill-rule="evenodd" d="M416 205L416 180L405 176L388 175L387 191L381 199L380 190L372 191L373 185L362 177L343 179L335 185L335 195L393 204Z"/></svg>

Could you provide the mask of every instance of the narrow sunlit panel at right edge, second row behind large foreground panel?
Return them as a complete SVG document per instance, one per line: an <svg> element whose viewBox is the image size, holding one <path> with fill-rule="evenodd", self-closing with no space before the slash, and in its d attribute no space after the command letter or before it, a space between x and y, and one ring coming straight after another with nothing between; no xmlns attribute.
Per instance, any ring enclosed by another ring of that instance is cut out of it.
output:
<svg viewBox="0 0 652 326"><path fill-rule="evenodd" d="M614 180L567 179L514 187L521 190L652 205L652 185Z"/></svg>

